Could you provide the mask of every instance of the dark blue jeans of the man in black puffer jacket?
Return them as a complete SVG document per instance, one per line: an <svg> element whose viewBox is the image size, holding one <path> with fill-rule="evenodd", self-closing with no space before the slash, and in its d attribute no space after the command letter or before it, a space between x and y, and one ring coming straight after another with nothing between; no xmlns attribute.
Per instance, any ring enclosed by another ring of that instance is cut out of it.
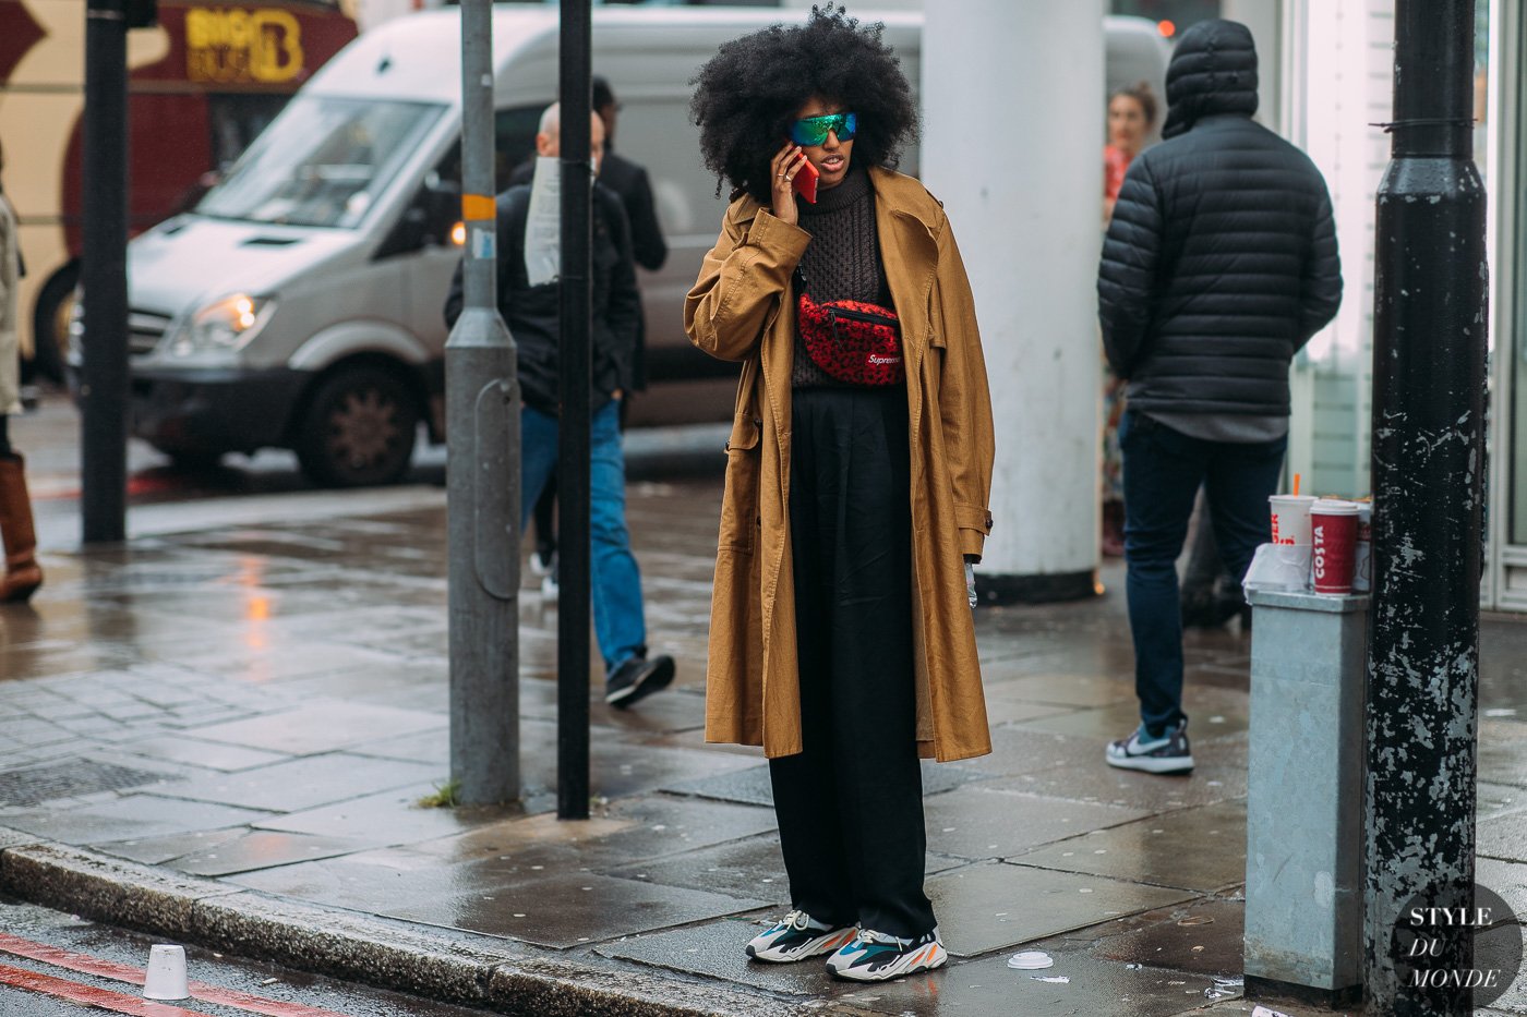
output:
<svg viewBox="0 0 1527 1017"><path fill-rule="evenodd" d="M1214 539L1238 580L1258 544L1270 539L1267 496L1277 492L1287 438L1203 441L1127 409L1124 450L1124 559L1135 638L1135 693L1151 733L1186 721L1182 712L1182 608L1177 556L1193 501L1203 486Z"/></svg>

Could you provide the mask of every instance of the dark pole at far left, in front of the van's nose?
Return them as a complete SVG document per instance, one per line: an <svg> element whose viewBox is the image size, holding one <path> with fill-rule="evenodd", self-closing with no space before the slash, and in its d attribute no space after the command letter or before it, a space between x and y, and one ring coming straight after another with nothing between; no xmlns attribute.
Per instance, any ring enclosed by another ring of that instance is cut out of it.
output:
<svg viewBox="0 0 1527 1017"><path fill-rule="evenodd" d="M127 21L86 8L84 379L79 516L86 544L127 536Z"/></svg>

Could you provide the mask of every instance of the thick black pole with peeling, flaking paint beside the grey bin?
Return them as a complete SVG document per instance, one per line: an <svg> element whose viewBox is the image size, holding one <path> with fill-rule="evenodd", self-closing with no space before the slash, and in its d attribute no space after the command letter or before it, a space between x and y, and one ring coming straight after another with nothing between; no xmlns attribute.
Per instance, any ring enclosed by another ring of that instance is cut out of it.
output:
<svg viewBox="0 0 1527 1017"><path fill-rule="evenodd" d="M1474 165L1474 0L1399 0L1394 140L1377 197L1374 588L1368 647L1370 1014L1472 1012L1396 953L1412 898L1474 899L1484 481L1484 188ZM1469 925L1428 925L1429 970L1467 971Z"/></svg>

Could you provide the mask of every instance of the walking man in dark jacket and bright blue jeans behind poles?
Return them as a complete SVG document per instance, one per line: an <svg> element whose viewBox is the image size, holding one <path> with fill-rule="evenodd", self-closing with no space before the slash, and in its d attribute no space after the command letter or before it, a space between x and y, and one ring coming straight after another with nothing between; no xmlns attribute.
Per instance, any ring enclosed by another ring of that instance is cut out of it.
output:
<svg viewBox="0 0 1527 1017"><path fill-rule="evenodd" d="M536 151L560 151L557 105L547 108ZM603 154L603 124L591 118L592 154ZM525 226L530 185L510 186L498 197L498 305L515 337L519 362L521 527L557 464L560 382L560 284L533 286L525 269ZM626 528L626 463L620 438L620 402L631 391L635 350L637 273L631 234L620 199L596 183L592 200L592 342L589 421L589 559L594 583L594 634L605 658L605 701L629 707L673 681L673 658L647 658L641 573ZM446 322L455 325L464 302L457 267L446 298Z"/></svg>

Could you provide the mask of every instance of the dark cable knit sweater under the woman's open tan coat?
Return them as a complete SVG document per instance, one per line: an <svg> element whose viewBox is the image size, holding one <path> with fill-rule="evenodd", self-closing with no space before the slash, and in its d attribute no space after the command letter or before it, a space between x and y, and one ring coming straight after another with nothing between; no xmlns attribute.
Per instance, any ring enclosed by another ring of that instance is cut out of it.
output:
<svg viewBox="0 0 1527 1017"><path fill-rule="evenodd" d="M866 301L892 307L886 269L880 260L875 189L869 183L869 173L851 168L843 183L817 192L815 205L797 197L796 208L800 211L800 228L811 234L811 243L800 258L800 272L811 298L818 302ZM846 382L817 366L799 331L789 383L793 388L849 388Z"/></svg>

